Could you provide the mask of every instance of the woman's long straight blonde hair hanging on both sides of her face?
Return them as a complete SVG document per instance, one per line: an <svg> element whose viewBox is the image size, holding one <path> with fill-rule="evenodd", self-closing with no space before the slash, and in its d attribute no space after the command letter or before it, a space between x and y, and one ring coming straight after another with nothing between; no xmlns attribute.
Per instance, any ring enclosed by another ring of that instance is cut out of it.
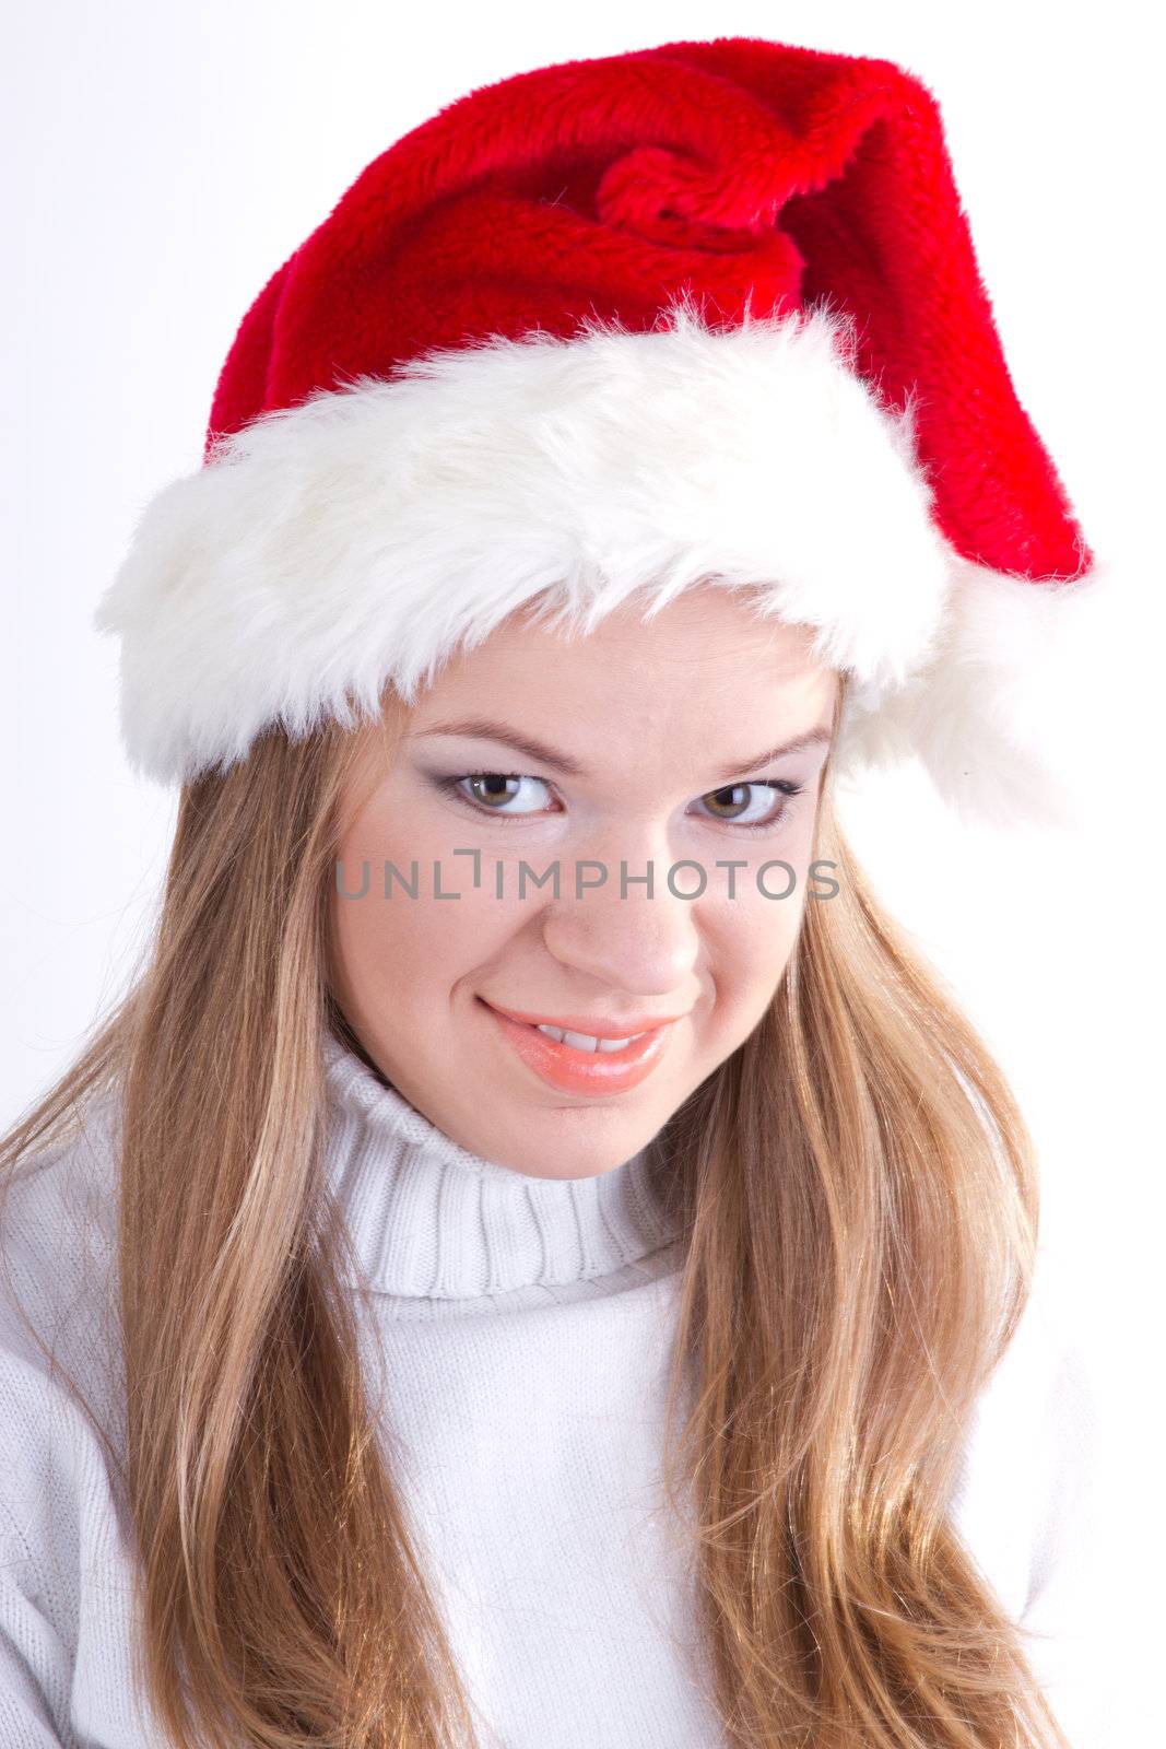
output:
<svg viewBox="0 0 1166 1749"><path fill-rule="evenodd" d="M124 1452L98 1432L136 1539L136 1679L177 1749L474 1742L322 1167L358 745L273 731L182 791L129 993L0 1149L2 1193L117 1090ZM1031 1140L855 864L830 766L815 855L839 892L654 1142L689 1231L664 1474L717 1704L748 1749L1068 1749L946 1511L1031 1289Z"/></svg>

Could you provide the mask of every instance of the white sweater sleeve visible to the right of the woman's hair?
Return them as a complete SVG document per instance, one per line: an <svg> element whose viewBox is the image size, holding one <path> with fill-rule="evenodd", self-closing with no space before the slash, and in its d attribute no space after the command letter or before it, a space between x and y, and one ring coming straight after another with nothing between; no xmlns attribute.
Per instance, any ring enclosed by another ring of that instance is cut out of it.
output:
<svg viewBox="0 0 1166 1749"><path fill-rule="evenodd" d="M1114 1749L1098 1670L1096 1401L1061 1291L1038 1265L965 1452L956 1522L1021 1628L1072 1749Z"/></svg>

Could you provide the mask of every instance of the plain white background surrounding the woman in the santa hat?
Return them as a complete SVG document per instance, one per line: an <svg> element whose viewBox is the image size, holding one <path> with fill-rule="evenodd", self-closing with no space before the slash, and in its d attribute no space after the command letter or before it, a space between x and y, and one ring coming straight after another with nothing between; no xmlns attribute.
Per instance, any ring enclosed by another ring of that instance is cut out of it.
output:
<svg viewBox="0 0 1166 1749"><path fill-rule="evenodd" d="M1133 5L21 7L0 124L5 422L0 1125L68 1063L152 915L175 798L128 771L91 630L145 502L199 465L215 378L274 268L439 107L551 61L755 35L899 61L939 98L1017 392L1129 647L1072 833L958 824L918 771L848 799L860 857L954 983L1042 1151L1042 1247L1091 1362L1115 1744L1149 1742L1163 1621L1159 59ZM1089 1749L1089 1746L1080 1746Z"/></svg>

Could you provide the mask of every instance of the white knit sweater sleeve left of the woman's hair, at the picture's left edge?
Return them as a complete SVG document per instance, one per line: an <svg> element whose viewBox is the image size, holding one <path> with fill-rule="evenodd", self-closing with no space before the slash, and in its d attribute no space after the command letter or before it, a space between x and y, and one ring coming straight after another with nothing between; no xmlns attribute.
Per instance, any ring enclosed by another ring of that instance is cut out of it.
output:
<svg viewBox="0 0 1166 1749"><path fill-rule="evenodd" d="M5 1744L96 1742L94 1721L101 1742L154 1740L129 1718L131 1527L100 1438L121 1459L117 1114L114 1095L91 1097L72 1133L19 1161L0 1203Z"/></svg>

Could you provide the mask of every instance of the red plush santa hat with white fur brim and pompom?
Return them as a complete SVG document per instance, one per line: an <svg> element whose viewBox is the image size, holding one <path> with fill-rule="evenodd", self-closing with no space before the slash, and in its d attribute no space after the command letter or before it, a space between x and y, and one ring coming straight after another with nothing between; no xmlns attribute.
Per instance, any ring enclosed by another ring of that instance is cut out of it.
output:
<svg viewBox="0 0 1166 1749"><path fill-rule="evenodd" d="M1101 575L890 61L673 42L414 128L246 311L96 624L166 784L414 701L524 603L587 631L698 582L850 675L843 771L1047 812Z"/></svg>

